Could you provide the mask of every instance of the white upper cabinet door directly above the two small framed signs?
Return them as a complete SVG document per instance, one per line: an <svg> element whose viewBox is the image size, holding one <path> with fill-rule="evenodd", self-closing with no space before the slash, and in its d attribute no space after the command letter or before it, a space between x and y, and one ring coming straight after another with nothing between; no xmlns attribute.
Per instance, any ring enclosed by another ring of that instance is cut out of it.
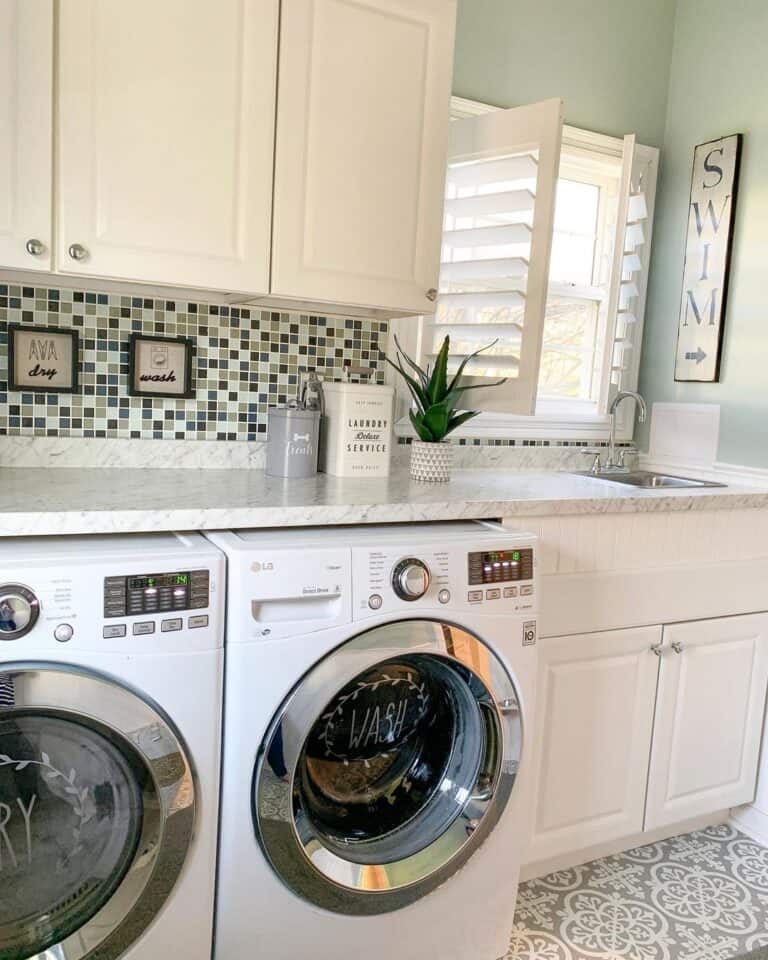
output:
<svg viewBox="0 0 768 960"><path fill-rule="evenodd" d="M278 0L60 4L61 272L268 291L278 14Z"/></svg>

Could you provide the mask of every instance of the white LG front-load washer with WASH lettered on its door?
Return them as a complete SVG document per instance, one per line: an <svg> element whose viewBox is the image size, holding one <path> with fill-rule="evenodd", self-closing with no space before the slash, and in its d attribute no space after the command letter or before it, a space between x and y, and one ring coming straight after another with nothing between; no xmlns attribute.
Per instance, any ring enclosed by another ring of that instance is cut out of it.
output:
<svg viewBox="0 0 768 960"><path fill-rule="evenodd" d="M535 539L209 537L228 557L217 960L494 960L529 828Z"/></svg>

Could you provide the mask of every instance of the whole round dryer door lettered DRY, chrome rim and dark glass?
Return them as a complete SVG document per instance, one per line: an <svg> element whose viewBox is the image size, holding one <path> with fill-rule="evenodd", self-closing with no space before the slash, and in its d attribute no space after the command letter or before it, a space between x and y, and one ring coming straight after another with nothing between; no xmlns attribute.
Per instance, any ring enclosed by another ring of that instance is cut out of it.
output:
<svg viewBox="0 0 768 960"><path fill-rule="evenodd" d="M19 666L0 673L0 960L117 958L183 862L189 834L167 848L184 830L170 822L161 784L191 789L189 768L135 694L90 674ZM183 811L193 794L181 800ZM163 864L170 873L150 903Z"/></svg>

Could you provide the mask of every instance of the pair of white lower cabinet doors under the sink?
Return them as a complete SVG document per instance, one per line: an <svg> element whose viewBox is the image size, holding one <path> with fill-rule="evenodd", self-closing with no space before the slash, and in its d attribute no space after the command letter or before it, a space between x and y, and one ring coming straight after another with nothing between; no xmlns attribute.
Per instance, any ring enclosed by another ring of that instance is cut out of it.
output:
<svg viewBox="0 0 768 960"><path fill-rule="evenodd" d="M539 658L528 863L754 798L768 614L545 638Z"/></svg>

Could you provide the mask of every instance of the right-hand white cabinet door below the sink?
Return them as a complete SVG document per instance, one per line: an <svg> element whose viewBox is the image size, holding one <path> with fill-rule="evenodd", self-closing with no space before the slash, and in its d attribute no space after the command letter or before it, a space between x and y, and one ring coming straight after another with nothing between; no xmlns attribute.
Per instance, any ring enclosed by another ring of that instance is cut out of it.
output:
<svg viewBox="0 0 768 960"><path fill-rule="evenodd" d="M768 681L768 614L665 627L664 648L649 830L754 798Z"/></svg>

